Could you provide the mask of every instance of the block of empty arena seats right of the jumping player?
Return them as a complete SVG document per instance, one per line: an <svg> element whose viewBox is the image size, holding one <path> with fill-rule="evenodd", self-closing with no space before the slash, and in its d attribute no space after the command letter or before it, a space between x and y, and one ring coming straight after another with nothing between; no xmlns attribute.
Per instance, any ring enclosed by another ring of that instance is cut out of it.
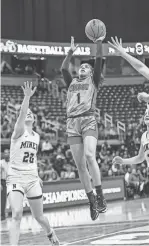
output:
<svg viewBox="0 0 149 246"><path fill-rule="evenodd" d="M137 102L136 95L144 91L143 85L133 85L135 90L135 105L132 104L131 90L132 85L104 86L100 88L97 99L97 107L103 113L113 116L114 122L117 120L127 123L127 120L133 118L134 121L144 114L145 104ZM148 87L145 88L146 91Z"/></svg>

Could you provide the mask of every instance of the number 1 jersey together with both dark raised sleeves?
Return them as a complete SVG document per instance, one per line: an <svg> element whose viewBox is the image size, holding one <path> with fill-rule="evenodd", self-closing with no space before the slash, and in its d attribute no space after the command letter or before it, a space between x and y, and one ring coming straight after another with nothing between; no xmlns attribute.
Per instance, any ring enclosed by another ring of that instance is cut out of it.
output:
<svg viewBox="0 0 149 246"><path fill-rule="evenodd" d="M97 44L97 54L94 62L93 75L85 79L72 78L69 73L69 64L73 51L70 50L62 64L62 74L67 92L67 117L89 116L95 111L97 91L101 82L102 70L102 43Z"/></svg>

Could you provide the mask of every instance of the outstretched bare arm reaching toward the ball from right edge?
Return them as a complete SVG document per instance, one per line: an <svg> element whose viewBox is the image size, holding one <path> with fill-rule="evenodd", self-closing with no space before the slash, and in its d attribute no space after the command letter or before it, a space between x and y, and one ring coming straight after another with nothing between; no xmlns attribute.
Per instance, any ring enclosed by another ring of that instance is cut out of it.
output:
<svg viewBox="0 0 149 246"><path fill-rule="evenodd" d="M146 79L149 80L149 68L144 63L142 63L135 57L129 55L125 51L125 49L122 47L121 39L120 41L118 41L117 37L115 37L115 39L114 38L111 39L112 39L112 43L111 42L108 43L117 51L117 53L120 56L122 56L126 61L128 61L134 67L134 69L136 69L140 74L142 74Z"/></svg>

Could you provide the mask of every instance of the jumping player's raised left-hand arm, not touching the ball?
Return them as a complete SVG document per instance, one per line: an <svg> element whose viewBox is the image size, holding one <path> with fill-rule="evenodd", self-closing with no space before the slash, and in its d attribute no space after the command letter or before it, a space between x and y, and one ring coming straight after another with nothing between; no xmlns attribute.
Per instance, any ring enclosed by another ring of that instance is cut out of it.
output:
<svg viewBox="0 0 149 246"><path fill-rule="evenodd" d="M72 82L72 77L71 74L69 72L69 64L72 58L72 55L74 53L74 51L77 49L78 45L74 44L74 37L71 37L71 47L70 50L68 51L67 56L65 57L62 66L61 66L61 71L65 80L65 83L67 86L70 85L70 83Z"/></svg>

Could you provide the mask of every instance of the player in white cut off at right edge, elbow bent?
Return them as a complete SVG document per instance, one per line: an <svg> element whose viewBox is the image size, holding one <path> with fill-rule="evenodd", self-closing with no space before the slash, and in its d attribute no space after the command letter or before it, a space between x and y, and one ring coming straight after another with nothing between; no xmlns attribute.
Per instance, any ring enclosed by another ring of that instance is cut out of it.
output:
<svg viewBox="0 0 149 246"><path fill-rule="evenodd" d="M144 160L146 160L147 165L149 167L149 107L145 111L144 122L147 125L147 131L145 131L142 134L140 150L138 155L127 159L123 159L120 156L116 156L113 159L114 165L116 164L133 165L133 164L139 164Z"/></svg>

